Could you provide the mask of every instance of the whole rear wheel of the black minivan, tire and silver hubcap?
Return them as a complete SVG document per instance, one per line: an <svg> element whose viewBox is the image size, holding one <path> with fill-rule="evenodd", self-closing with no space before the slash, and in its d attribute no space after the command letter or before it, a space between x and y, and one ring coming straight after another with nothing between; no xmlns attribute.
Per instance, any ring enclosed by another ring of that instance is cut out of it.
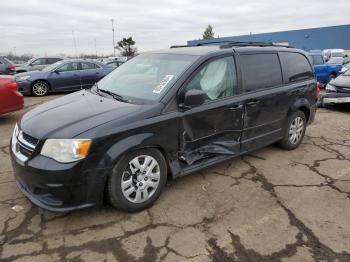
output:
<svg viewBox="0 0 350 262"><path fill-rule="evenodd" d="M305 114L300 110L293 112L287 119L283 139L278 142L279 146L286 150L296 149L303 141L305 130Z"/></svg>

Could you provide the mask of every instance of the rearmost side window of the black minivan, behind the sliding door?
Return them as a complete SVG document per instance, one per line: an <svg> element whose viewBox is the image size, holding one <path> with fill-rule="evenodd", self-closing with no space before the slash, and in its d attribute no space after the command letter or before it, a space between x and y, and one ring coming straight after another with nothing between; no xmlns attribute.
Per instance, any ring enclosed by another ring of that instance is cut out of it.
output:
<svg viewBox="0 0 350 262"><path fill-rule="evenodd" d="M280 53L283 74L287 83L298 82L314 77L309 60L299 53Z"/></svg>

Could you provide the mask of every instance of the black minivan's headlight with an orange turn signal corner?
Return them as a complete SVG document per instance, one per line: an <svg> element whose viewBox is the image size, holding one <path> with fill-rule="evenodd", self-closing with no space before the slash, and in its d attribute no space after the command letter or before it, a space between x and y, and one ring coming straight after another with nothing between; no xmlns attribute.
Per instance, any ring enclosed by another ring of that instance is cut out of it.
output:
<svg viewBox="0 0 350 262"><path fill-rule="evenodd" d="M85 158L90 144L91 139L47 139L40 154L69 163Z"/></svg>

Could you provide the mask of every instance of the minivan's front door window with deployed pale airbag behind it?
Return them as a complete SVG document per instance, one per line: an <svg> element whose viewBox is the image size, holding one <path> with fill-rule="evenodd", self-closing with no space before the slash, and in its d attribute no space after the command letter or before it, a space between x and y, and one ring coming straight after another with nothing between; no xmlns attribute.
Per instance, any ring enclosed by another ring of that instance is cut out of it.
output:
<svg viewBox="0 0 350 262"><path fill-rule="evenodd" d="M207 101L233 96L237 90L233 57L216 59L206 64L186 87L186 91L193 89L202 90Z"/></svg>

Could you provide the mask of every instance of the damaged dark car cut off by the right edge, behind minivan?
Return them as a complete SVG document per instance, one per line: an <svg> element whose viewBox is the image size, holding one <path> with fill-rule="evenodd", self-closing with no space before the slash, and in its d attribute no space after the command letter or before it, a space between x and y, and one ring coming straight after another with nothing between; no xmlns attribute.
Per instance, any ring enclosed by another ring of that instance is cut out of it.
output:
<svg viewBox="0 0 350 262"><path fill-rule="evenodd" d="M350 69L330 81L326 86L326 92L321 98L321 106L350 104Z"/></svg>

